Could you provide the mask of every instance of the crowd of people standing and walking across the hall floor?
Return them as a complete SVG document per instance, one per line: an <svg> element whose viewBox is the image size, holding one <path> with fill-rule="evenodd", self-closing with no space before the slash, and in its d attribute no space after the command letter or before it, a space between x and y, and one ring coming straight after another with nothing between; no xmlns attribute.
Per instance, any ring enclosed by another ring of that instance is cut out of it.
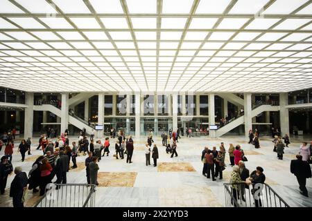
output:
<svg viewBox="0 0 312 221"><path fill-rule="evenodd" d="M186 135L189 136L190 128L187 128ZM106 137L103 142L98 139L94 140L94 132L90 137L87 136L85 128L80 131L78 136L78 142L71 142L69 144L68 130L64 131L55 142L51 140L51 137L48 137L47 134L41 135L39 140L39 145L37 149L42 150L42 155L37 157L35 162L31 167L28 175L22 171L21 167L17 166L13 170L12 166L12 153L14 148L14 139L10 136L1 137L1 144L6 146L4 151L5 155L1 157L0 164L0 191L1 194L5 192L6 182L8 175L15 172L15 179L11 183L10 196L13 198L14 206L23 206L24 198L24 189L32 190L33 193L40 192L40 195L44 195L46 192L46 185L53 182L55 184L66 184L67 183L67 172L69 169L76 169L77 161L76 158L81 155L87 155L85 158L85 169L86 177L88 184L98 185L97 175L99 165L98 162L101 161L103 157L109 157L110 155L110 138L116 137L116 142L114 142L114 154L113 157L116 159L123 160L125 155L126 163L132 163L132 155L134 151L134 141L131 136L125 137L123 131L116 132L114 135L114 128L112 128L111 137ZM177 143L180 137L181 128L178 128L177 131L170 130L168 135L167 133L162 133L162 146L166 148L166 153L171 154L171 157L177 157ZM182 134L183 135L183 134ZM250 144L254 144L255 148L260 148L259 145L259 131L250 130ZM284 143L281 140L284 139ZM284 147L290 144L288 135L284 137L279 137L275 135L275 143L273 151L277 152L277 157L282 160ZM24 162L26 153L31 155L31 138L28 140L21 140L17 151L21 154L21 161ZM2 145L0 145L2 146ZM297 181L300 184L300 193L302 195L308 196L306 190L306 178L311 177L311 169L309 162L311 162L311 151L312 151L312 142L308 146L306 142L302 143L300 146L299 155L297 155L297 160L291 162L291 173L297 177ZM159 149L157 144L153 140L153 131L150 131L147 142L144 147L144 153L146 155L146 166L150 166L150 157L153 158L153 166L157 166L157 160L159 159ZM211 149L208 146L205 146L201 154L201 160L203 163L202 175L207 177L212 181L223 180L223 171L226 168L225 159L229 157L230 164L232 166L232 173L230 182L232 184L234 199L245 201L244 188L249 188L252 185L252 194L255 193L256 187L255 184L263 184L266 180L266 175L263 173L263 168L257 166L252 173L245 167L245 162L248 161L243 148L241 145L229 144L229 147L225 148L223 142L218 146L213 146ZM72 162L73 166L70 167ZM239 184L239 185L237 185ZM12 189L13 188L13 189ZM58 187L57 187L58 189ZM261 200L255 200L255 206L262 206Z"/></svg>

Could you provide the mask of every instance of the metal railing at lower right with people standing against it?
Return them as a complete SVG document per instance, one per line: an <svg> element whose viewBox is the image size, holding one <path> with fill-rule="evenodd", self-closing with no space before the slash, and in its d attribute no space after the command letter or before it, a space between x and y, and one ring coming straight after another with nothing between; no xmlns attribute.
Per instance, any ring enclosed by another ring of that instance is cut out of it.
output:
<svg viewBox="0 0 312 221"><path fill-rule="evenodd" d="M263 189L261 189L260 194L257 195L257 200L254 196L255 193L252 193L252 190L256 189L254 188L255 184L225 183L223 185L225 186L225 206L252 207L253 204L255 204L256 207L290 207L285 200L266 183L263 184ZM231 191L229 190L229 186L231 186ZM248 189L247 192L246 189Z"/></svg>

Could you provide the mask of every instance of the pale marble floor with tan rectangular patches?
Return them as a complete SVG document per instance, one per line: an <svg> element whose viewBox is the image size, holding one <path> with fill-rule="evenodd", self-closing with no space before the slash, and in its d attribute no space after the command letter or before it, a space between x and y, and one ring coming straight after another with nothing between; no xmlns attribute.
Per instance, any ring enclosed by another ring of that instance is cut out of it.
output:
<svg viewBox="0 0 312 221"><path fill-rule="evenodd" d="M77 140L69 137L70 143ZM17 153L16 144L12 164L22 166L28 173L34 160L42 154L35 150L38 137L33 138L32 153L26 155L25 162L21 162L21 156ZM127 164L125 159L116 160L113 157L114 149L110 147L110 156L102 157L98 163L98 187L96 191L96 206L225 206L225 191L223 183L229 182L232 167L229 166L229 156L226 155L227 165L223 180L212 182L202 175L202 162L200 155L205 146L218 146L224 142L226 148L229 144L241 144L248 158L246 167L254 171L257 166L262 166L266 174L266 183L269 184L290 206L312 206L312 179L306 182L309 198L299 193L299 186L289 167L291 160L299 151L300 138L291 140L289 148L285 149L284 160L277 160L276 153L272 152L272 140L270 137L261 137L261 148L245 142L244 137L227 136L216 139L209 137L182 137L177 145L177 157L171 158L162 146L160 137L154 137L159 149L157 167L145 165L144 144L145 137L135 140L135 151L132 164ZM306 140L309 142L309 140ZM110 141L114 144L114 140ZM4 149L4 148L3 148ZM3 149L0 155L3 155ZM68 183L84 184L86 156L78 157L78 168L67 173ZM8 177L6 193L0 195L0 206L12 206L12 200L8 197L10 183L14 175ZM29 191L26 195L26 206L33 206L38 199L38 193Z"/></svg>

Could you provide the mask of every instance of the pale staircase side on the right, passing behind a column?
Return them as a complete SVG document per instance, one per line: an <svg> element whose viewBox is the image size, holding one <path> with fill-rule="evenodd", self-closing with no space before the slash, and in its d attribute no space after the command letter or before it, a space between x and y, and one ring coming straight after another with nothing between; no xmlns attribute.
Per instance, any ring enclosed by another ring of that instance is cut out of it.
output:
<svg viewBox="0 0 312 221"><path fill-rule="evenodd" d="M252 117L257 116L264 111L279 111L279 106L272 106L268 104L256 106L252 109ZM236 119L230 119L227 124L218 128L218 130L216 131L216 136L220 137L225 133L232 131L237 126L244 124L244 122L245 122L244 115L240 115Z"/></svg>

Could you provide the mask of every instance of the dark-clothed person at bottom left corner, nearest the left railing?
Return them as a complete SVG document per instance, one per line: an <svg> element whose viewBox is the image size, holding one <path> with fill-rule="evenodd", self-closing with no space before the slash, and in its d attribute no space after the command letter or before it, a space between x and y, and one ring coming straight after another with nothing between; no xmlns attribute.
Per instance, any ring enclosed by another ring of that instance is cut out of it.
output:
<svg viewBox="0 0 312 221"><path fill-rule="evenodd" d="M16 174L10 186L10 197L13 198L14 207L24 207L23 195L27 188L27 175L21 171L21 167L15 167Z"/></svg>

